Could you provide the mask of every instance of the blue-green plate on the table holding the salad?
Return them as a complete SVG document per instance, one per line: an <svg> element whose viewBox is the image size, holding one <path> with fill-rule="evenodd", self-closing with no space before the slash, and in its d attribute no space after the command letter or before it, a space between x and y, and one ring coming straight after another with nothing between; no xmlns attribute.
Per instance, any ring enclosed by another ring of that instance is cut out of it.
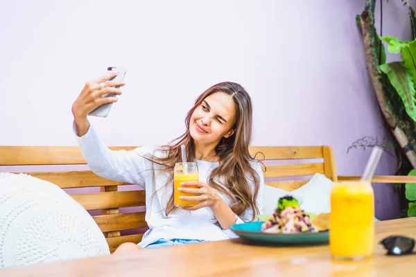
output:
<svg viewBox="0 0 416 277"><path fill-rule="evenodd" d="M259 244L312 245L327 244L329 242L329 231L292 234L262 233L261 224L263 224L263 222L249 222L234 224L229 228L241 238Z"/></svg>

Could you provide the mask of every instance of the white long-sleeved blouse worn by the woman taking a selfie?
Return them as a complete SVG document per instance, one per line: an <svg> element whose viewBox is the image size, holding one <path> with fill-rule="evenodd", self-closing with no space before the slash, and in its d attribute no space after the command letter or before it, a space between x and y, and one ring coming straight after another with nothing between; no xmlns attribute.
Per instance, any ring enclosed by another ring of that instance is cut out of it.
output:
<svg viewBox="0 0 416 277"><path fill-rule="evenodd" d="M73 123L73 132L76 134L75 123ZM112 151L98 139L92 125L90 125L87 134L76 135L76 139L89 168L96 175L114 181L138 184L146 190L146 222L149 229L144 233L143 239L138 244L139 247L146 247L161 238L207 241L236 238L236 234L231 230L221 229L214 213L208 207L200 208L198 211L178 210L166 216L165 207L173 192L172 186L165 186L169 174L158 170L161 166L157 163L144 159L144 157L150 158L152 154L155 157L162 157L164 152L159 148L152 146L139 147L131 151ZM211 170L219 165L218 162L211 163L200 160L196 160L196 163L199 181L205 183L207 183ZM259 175L260 187L256 204L262 213L263 171L259 162L253 162L252 167ZM254 189L252 180L248 178L248 181ZM225 195L220 196L227 204L231 204ZM253 211L249 208L237 219L237 223L249 222L252 220L252 213Z"/></svg>

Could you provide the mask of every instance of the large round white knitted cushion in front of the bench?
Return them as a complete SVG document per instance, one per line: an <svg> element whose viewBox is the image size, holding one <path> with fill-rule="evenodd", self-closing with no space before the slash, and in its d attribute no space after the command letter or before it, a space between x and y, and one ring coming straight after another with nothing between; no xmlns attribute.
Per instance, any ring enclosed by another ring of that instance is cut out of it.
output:
<svg viewBox="0 0 416 277"><path fill-rule="evenodd" d="M107 254L96 222L64 190L0 172L0 268Z"/></svg>

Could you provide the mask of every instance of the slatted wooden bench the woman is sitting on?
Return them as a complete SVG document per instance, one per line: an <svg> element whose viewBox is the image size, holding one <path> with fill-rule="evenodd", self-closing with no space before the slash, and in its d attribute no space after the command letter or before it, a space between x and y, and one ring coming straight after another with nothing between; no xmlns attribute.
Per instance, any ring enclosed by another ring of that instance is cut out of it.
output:
<svg viewBox="0 0 416 277"><path fill-rule="evenodd" d="M133 150L135 147L110 147L112 150ZM329 146L251 147L250 153L266 164L266 184L284 190L295 190L306 184L315 173L322 173L338 181L332 149ZM85 165L85 159L76 146L0 146L0 166L67 166ZM4 171L4 170L3 170ZM6 170L8 171L8 170ZM20 170L12 170L21 172ZM123 230L147 227L145 212L120 213L120 208L145 206L145 192L120 191L130 185L98 177L89 170L26 172L28 175L50 181L62 189L98 187L97 193L70 194L87 211L101 210L93 218L103 231L110 251L123 242L139 243L143 233L122 235ZM299 179L299 177L303 179ZM276 178L284 178L279 180ZM343 177L354 179L356 177ZM385 177L382 182L395 181ZM377 179L379 180L379 179Z"/></svg>

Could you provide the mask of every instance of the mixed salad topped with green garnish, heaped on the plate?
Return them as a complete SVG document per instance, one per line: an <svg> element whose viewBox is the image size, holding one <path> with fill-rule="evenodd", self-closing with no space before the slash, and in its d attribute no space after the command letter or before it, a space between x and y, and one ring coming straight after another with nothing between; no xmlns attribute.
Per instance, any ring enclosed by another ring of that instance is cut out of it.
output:
<svg viewBox="0 0 416 277"><path fill-rule="evenodd" d="M263 233L318 233L319 229L311 223L311 216L291 197L281 197L273 215L261 225Z"/></svg>

